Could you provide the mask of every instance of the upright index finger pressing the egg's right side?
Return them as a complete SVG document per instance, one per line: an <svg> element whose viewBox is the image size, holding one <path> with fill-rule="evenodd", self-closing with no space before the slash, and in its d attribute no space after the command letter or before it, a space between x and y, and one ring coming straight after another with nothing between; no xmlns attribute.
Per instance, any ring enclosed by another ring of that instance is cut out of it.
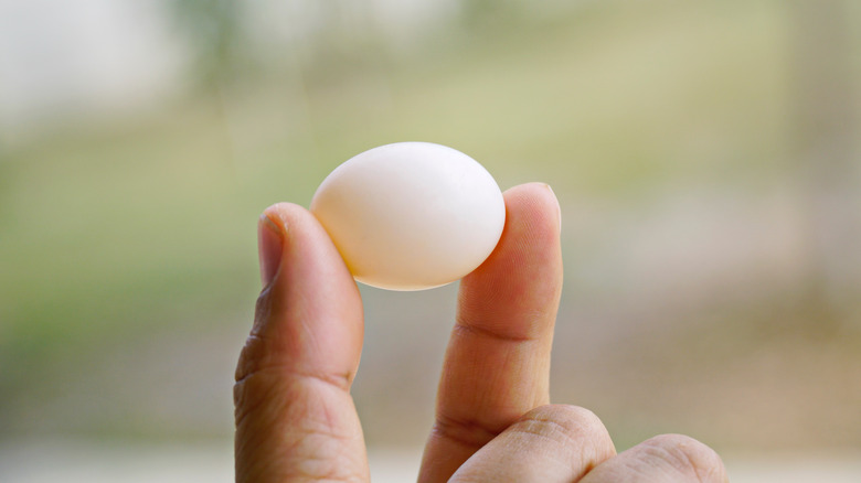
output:
<svg viewBox="0 0 861 483"><path fill-rule="evenodd" d="M460 283L421 482L447 481L472 453L550 399L562 291L559 202L541 183L512 187L504 197L499 245Z"/></svg>

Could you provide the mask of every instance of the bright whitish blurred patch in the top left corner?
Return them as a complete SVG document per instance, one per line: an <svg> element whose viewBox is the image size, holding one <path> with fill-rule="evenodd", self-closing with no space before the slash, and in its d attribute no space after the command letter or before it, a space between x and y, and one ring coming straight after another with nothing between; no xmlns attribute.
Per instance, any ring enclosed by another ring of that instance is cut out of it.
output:
<svg viewBox="0 0 861 483"><path fill-rule="evenodd" d="M4 141L45 124L140 114L177 94L185 57L162 9L147 0L0 2Z"/></svg>

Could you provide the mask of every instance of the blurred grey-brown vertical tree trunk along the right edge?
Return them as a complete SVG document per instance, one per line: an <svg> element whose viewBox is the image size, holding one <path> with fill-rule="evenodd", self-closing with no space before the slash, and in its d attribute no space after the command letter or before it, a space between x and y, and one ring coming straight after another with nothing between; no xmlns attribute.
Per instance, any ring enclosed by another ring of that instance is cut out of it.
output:
<svg viewBox="0 0 861 483"><path fill-rule="evenodd" d="M840 329L861 282L861 155L854 0L793 3L794 140L806 203L807 290L817 333ZM857 303L857 301L854 302Z"/></svg>

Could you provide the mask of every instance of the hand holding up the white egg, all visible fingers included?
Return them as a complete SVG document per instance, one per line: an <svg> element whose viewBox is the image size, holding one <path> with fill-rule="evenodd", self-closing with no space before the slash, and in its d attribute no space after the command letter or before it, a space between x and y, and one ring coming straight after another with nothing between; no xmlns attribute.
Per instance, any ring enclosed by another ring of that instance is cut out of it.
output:
<svg viewBox="0 0 861 483"><path fill-rule="evenodd" d="M460 285L418 481L727 481L694 439L663 434L616 454L593 412L549 404L559 203L540 183L504 197L499 245ZM265 287L236 368L236 481L368 482L350 396L363 332L355 282L300 206L268 207L258 235Z"/></svg>

